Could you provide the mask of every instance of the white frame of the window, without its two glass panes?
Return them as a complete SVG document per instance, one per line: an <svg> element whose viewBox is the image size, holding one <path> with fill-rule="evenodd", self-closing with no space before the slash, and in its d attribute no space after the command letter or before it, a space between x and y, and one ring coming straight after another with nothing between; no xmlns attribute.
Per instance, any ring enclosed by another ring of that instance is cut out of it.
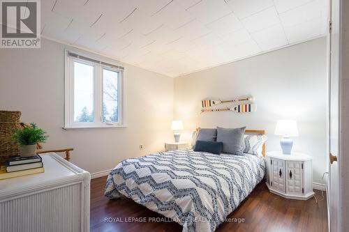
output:
<svg viewBox="0 0 349 232"><path fill-rule="evenodd" d="M84 56L88 59L98 61L88 61L79 57L70 56L69 53ZM89 129L89 128L115 128L126 127L126 98L125 98L125 68L117 63L110 61L103 56L87 54L80 50L65 49L65 75L64 75L64 129ZM74 62L80 62L94 66L94 122L84 123L74 121ZM110 64L110 65L108 65ZM119 68L117 68L119 67ZM103 69L118 72L118 122L103 122Z"/></svg>

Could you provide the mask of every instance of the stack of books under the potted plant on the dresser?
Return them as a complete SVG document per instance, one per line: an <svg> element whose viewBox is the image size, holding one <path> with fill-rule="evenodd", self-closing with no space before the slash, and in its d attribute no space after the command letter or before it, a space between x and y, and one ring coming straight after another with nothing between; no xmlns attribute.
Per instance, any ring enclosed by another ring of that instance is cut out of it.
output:
<svg viewBox="0 0 349 232"><path fill-rule="evenodd" d="M0 180L42 172L44 172L44 168L40 155L31 157L13 156L8 159L6 166L1 166Z"/></svg>

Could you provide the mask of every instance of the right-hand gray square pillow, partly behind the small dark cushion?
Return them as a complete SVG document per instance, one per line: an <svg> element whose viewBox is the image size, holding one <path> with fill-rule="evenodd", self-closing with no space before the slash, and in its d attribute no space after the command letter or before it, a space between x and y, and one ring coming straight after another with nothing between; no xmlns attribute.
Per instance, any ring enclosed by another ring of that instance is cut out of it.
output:
<svg viewBox="0 0 349 232"><path fill-rule="evenodd" d="M242 141L246 127L222 128L217 127L217 141L223 142L223 153L243 155Z"/></svg>

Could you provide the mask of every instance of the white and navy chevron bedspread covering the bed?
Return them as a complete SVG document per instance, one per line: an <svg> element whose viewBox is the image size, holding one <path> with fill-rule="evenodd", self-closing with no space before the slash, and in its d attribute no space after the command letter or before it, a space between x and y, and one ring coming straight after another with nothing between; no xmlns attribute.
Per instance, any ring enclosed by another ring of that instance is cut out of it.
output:
<svg viewBox="0 0 349 232"><path fill-rule="evenodd" d="M214 231L264 176L265 160L256 155L172 150L117 164L105 196L123 194L183 225L183 231Z"/></svg>

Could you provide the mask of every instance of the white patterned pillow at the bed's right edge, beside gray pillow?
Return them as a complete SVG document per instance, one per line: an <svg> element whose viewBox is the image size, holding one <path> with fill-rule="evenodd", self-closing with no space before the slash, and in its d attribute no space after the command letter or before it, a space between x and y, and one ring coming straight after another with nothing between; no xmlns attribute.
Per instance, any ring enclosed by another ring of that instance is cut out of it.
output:
<svg viewBox="0 0 349 232"><path fill-rule="evenodd" d="M264 134L244 134L244 141L242 142L244 153L262 156L263 144L267 139Z"/></svg>

